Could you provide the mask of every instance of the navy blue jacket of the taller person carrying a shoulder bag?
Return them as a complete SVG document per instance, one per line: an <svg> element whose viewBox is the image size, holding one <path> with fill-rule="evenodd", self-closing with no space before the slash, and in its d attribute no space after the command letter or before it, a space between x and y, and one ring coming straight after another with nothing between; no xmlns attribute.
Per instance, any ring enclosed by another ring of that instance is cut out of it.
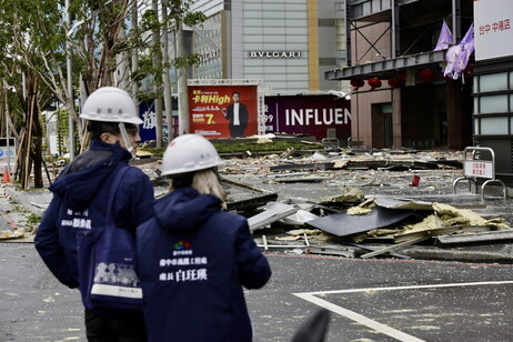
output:
<svg viewBox="0 0 513 342"><path fill-rule="evenodd" d="M53 275L69 288L79 286L76 234L105 223L115 171L130 158L119 143L92 140L89 151L68 164L50 185L53 198L36 232L34 244ZM151 217L153 200L148 175L130 168L115 195L114 222L135 233L137 227Z"/></svg>

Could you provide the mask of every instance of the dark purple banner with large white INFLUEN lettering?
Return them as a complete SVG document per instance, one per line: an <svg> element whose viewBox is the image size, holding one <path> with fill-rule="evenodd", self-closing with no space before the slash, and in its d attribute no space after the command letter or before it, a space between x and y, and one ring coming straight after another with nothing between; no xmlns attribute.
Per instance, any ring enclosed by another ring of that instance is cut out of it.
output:
<svg viewBox="0 0 513 342"><path fill-rule="evenodd" d="M351 137L351 102L335 95L265 97L265 133L309 134L318 141L334 129Z"/></svg>

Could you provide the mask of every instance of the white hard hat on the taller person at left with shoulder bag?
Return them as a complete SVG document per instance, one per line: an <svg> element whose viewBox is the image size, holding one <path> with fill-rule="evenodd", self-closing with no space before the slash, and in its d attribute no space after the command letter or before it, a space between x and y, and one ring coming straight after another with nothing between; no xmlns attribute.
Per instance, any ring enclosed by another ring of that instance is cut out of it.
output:
<svg viewBox="0 0 513 342"><path fill-rule="evenodd" d="M80 119L133 124L143 122L130 94L114 87L102 87L93 91L83 103Z"/></svg>

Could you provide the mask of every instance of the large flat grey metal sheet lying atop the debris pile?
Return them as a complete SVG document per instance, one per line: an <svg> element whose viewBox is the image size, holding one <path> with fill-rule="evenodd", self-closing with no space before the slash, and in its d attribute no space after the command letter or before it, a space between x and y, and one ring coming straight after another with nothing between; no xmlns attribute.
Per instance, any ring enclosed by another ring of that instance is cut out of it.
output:
<svg viewBox="0 0 513 342"><path fill-rule="evenodd" d="M370 214L349 215L345 212L341 212L309 221L305 224L336 237L346 237L396 224L415 214L411 210L391 210L376 207Z"/></svg>

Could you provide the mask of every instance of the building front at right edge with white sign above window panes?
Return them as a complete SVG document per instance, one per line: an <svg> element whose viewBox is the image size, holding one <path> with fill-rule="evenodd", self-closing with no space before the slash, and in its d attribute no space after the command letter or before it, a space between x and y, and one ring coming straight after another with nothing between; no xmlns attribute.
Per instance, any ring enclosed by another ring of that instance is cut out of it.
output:
<svg viewBox="0 0 513 342"><path fill-rule="evenodd" d="M474 0L473 137L495 153L497 177L513 184L513 1Z"/></svg>

